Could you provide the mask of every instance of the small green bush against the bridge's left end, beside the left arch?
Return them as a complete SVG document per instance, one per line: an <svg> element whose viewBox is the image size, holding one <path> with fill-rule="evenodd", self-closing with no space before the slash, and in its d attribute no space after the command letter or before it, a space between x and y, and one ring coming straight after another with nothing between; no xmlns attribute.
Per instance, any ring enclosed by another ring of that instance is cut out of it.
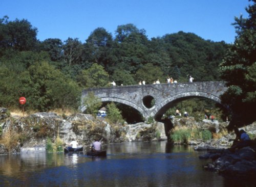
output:
<svg viewBox="0 0 256 187"><path fill-rule="evenodd" d="M86 106L87 114L91 114L96 117L102 102L94 95L93 92L89 92L88 96L83 98L83 105Z"/></svg>

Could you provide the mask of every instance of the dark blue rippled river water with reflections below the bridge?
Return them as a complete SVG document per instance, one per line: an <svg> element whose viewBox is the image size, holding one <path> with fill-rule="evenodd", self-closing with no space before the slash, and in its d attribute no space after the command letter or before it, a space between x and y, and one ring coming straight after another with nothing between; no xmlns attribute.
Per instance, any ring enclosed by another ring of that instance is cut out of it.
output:
<svg viewBox="0 0 256 187"><path fill-rule="evenodd" d="M204 152L166 141L104 145L105 158L78 153L0 155L0 186L244 186L203 170Z"/></svg>

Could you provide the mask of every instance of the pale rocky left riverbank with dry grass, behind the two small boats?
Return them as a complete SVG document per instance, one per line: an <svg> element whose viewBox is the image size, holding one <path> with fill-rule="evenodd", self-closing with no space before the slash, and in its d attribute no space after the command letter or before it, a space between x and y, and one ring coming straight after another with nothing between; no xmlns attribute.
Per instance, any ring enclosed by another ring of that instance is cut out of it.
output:
<svg viewBox="0 0 256 187"><path fill-rule="evenodd" d="M164 124L159 122L110 124L87 114L35 113L20 117L11 116L4 108L0 108L0 114L0 154L42 152L49 142L65 147L73 138L84 148L89 148L95 138L102 144L167 139Z"/></svg>

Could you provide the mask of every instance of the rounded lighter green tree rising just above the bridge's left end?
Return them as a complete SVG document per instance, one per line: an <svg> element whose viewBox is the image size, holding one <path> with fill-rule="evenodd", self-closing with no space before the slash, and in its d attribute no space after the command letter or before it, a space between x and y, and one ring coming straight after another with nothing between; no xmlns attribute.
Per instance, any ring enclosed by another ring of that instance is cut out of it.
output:
<svg viewBox="0 0 256 187"><path fill-rule="evenodd" d="M104 87L109 82L109 74L95 63L89 69L82 70L77 81L82 88Z"/></svg>

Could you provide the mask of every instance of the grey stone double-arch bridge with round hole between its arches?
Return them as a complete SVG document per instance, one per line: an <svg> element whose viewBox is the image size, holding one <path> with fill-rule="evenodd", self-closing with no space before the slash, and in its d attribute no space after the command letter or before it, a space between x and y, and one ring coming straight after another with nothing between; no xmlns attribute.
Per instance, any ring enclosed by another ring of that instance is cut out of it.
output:
<svg viewBox="0 0 256 187"><path fill-rule="evenodd" d="M161 117L169 107L182 99L205 97L221 103L220 95L227 90L224 82L194 82L177 84L133 85L95 88L82 91L82 99L93 92L102 102L119 102L131 106L147 119ZM154 105L151 101L154 99ZM86 110L80 106L81 112Z"/></svg>

